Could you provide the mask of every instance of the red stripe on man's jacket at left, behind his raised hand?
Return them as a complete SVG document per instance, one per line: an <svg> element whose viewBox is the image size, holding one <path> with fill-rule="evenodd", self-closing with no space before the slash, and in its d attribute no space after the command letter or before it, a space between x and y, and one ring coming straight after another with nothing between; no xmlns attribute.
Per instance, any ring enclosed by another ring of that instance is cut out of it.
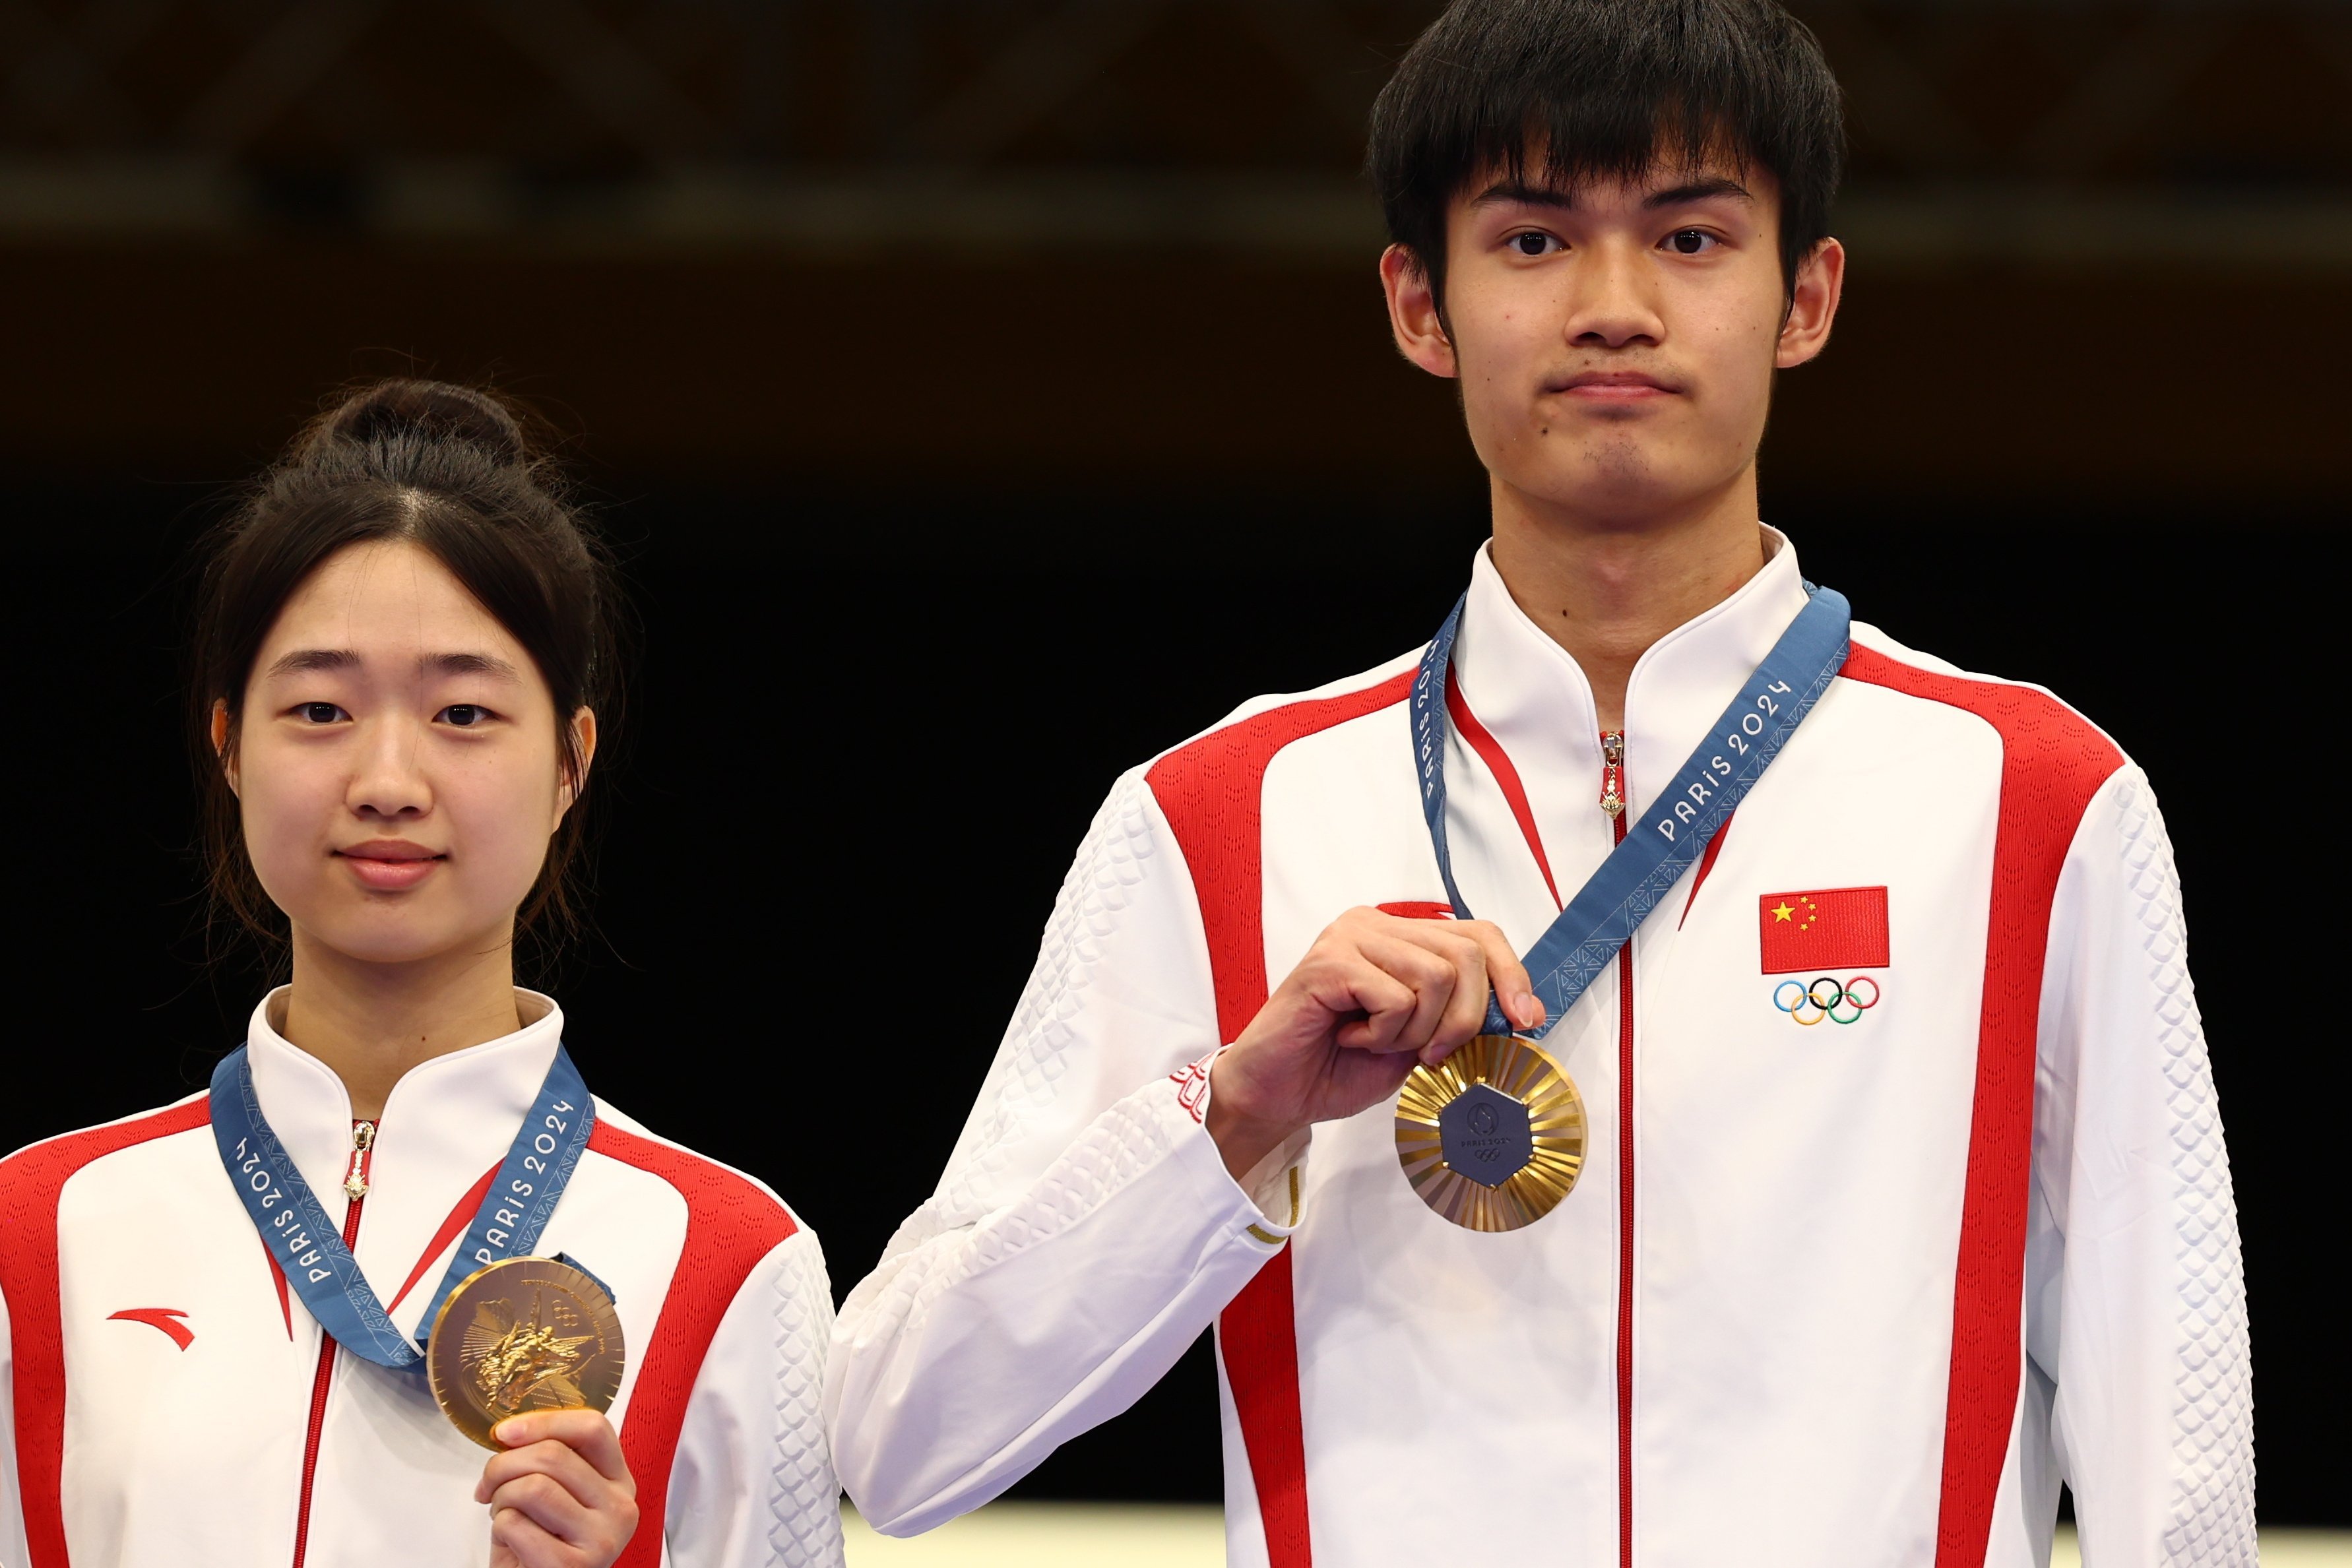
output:
<svg viewBox="0 0 2352 1568"><path fill-rule="evenodd" d="M1261 797L1275 755L1317 731L1406 698L1414 672L1345 696L1310 698L1228 724L1152 764L1145 780L1176 832L1209 938L1216 1027L1232 1041L1265 1006L1265 844ZM1399 724L1397 755L1406 752ZM1218 1316L1225 1387L1258 1490L1270 1568L1310 1568L1305 1429L1298 1415L1298 1321L1291 1248L1251 1276Z"/></svg>

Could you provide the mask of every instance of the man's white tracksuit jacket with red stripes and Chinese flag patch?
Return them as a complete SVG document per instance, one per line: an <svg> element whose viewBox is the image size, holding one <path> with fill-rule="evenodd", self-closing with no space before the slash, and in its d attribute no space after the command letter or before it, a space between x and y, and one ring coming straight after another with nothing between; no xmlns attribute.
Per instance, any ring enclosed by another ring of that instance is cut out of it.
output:
<svg viewBox="0 0 2352 1568"><path fill-rule="evenodd" d="M1632 672L1630 823L1804 604L1769 543ZM1613 842L1592 693L1484 550L1456 658L1491 736L1451 726L1456 872L1526 950L1538 849L1573 896ZM1235 1563L2025 1568L2060 1479L2096 1568L2253 1563L2173 858L2147 778L2034 686L1853 628L1548 1037L1590 1119L1548 1218L1437 1218L1390 1105L1225 1175L1188 1063L1350 905L1444 903L1411 672L1261 698L1112 790L938 1192L835 1324L866 1519L985 1502L1214 1321ZM1764 973L1764 926L1825 889L1884 889L1889 947L1832 980L1875 1006L1802 1027L1773 997L1816 973Z"/></svg>

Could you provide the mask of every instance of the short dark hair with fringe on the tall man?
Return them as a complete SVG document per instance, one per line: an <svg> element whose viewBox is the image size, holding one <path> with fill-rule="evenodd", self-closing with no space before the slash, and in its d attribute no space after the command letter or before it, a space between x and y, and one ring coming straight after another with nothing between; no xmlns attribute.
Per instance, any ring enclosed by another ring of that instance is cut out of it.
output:
<svg viewBox="0 0 2352 1568"><path fill-rule="evenodd" d="M1637 181L1708 155L1778 181L1795 289L1830 233L1846 125L1830 61L1778 0L1454 0L1371 106L1364 167L1444 303L1446 209L1472 179Z"/></svg>

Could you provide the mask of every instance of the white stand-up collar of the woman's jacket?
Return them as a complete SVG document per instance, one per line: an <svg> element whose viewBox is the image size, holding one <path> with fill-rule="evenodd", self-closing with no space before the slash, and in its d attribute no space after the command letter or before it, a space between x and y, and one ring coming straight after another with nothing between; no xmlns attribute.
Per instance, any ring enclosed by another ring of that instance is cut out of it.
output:
<svg viewBox="0 0 2352 1568"><path fill-rule="evenodd" d="M327 1063L278 1032L273 1016L285 1013L285 997L287 987L278 987L254 1009L245 1039L254 1093L303 1180L327 1213L339 1215L350 1166L350 1095ZM376 1131L372 1187L402 1194L402 1208L409 1199L447 1208L513 1145L564 1032L564 1013L553 999L517 990L515 1001L532 1023L419 1063L393 1084Z"/></svg>

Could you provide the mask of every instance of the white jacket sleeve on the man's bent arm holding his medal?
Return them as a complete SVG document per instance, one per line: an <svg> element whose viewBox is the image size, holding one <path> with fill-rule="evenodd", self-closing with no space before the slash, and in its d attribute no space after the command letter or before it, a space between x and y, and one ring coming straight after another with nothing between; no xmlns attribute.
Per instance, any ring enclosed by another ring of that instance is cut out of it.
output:
<svg viewBox="0 0 2352 1568"><path fill-rule="evenodd" d="M1296 1222L1209 1140L1200 905L1141 773L1094 818L938 1190L849 1293L826 1425L866 1521L969 1512L1167 1373Z"/></svg>

